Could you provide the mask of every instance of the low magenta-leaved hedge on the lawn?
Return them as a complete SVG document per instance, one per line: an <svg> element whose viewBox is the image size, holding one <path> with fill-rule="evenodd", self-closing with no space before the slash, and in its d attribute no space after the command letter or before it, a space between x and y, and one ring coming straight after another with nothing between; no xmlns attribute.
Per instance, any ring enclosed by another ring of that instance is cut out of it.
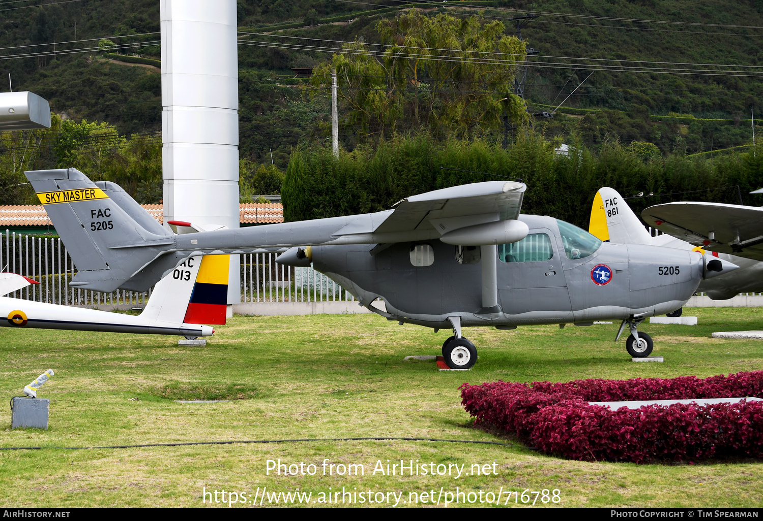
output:
<svg viewBox="0 0 763 521"><path fill-rule="evenodd" d="M588 401L763 398L763 371L674 379L575 380L461 386L476 422L572 459L649 462L713 455L763 456L763 401L650 405L613 411Z"/></svg>

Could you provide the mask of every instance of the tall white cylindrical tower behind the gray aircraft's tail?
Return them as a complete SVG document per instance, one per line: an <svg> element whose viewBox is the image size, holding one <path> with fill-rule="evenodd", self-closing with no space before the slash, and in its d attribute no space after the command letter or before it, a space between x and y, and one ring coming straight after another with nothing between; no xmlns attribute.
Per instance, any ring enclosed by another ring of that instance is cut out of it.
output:
<svg viewBox="0 0 763 521"><path fill-rule="evenodd" d="M239 227L236 0L160 0L164 219ZM240 302L239 256L228 303Z"/></svg>

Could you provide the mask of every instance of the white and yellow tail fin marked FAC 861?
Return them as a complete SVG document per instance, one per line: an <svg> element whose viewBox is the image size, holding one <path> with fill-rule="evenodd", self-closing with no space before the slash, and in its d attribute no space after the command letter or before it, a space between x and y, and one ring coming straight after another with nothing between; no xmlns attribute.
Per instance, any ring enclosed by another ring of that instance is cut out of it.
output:
<svg viewBox="0 0 763 521"><path fill-rule="evenodd" d="M630 245L651 245L652 235L613 188L601 188L591 205L591 222L588 231L602 241L621 242Z"/></svg>

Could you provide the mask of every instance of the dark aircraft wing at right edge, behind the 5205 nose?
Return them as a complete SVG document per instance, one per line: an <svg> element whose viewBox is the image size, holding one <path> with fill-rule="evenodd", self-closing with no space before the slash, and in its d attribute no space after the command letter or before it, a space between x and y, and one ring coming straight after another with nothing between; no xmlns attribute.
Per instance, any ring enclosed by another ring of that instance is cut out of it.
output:
<svg viewBox="0 0 763 521"><path fill-rule="evenodd" d="M722 203L667 203L641 213L656 229L710 251L763 261L763 208Z"/></svg>

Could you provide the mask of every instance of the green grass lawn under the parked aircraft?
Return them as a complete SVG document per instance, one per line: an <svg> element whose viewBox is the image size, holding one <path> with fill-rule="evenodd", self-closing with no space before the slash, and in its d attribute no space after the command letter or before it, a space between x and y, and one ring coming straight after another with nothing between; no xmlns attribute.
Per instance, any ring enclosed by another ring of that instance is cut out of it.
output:
<svg viewBox="0 0 763 521"><path fill-rule="evenodd" d="M665 356L665 363L632 363L624 338L613 343L618 324L467 329L465 336L480 356L470 372L438 372L433 363L403 362L407 355L439 354L449 331L433 334L375 315L236 317L216 328L202 348L181 348L175 337L3 328L0 394L5 400L21 394L45 369L54 369L56 376L40 391L40 398L50 398L50 429L11 430L6 408L0 446L363 436L516 443L473 426L460 405L459 385L498 379L705 377L763 367L760 341L710 338L712 331L763 330L763 308L684 309L684 315L698 315L699 325L642 325L655 340L654 354ZM174 401L221 398L232 401ZM317 472L266 475L267 461L278 459L314 464ZM364 475L323 475L324 459L362 464ZM465 467L460 478L373 473L378 461L386 471L387 460L399 465L401 459L451 465L453 473L453 464ZM495 464L497 475L468 475L475 464ZM381 497L376 493L402 493L398 507L410 506L409 493L434 491L443 506L441 488L445 494L458 487L482 491L483 498L501 490L559 489L562 506L759 507L761 483L763 465L754 459L591 463L520 445L316 441L0 451L4 507L198 507L209 504L209 496L202 503L204 490L246 493L252 500L258 487L259 494L263 487L269 494L311 492L311 504L320 504L312 502L321 492L326 499L326 493L338 490L341 505L344 487L353 494L371 491L376 498ZM503 495L501 505L505 500ZM509 505L514 504L512 495Z"/></svg>

